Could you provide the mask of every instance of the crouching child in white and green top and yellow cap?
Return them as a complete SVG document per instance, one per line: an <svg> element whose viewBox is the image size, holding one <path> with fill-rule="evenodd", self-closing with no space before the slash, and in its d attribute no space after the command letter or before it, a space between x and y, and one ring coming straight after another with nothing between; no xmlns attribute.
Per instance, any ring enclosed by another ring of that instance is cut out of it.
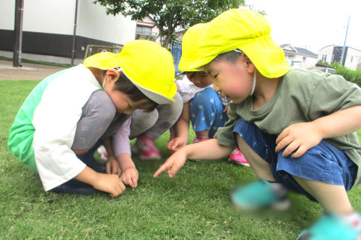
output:
<svg viewBox="0 0 361 240"><path fill-rule="evenodd" d="M137 170L130 152L106 166L96 162L101 138L135 109L151 111L175 94L171 53L155 42L127 42L120 54L101 52L42 80L18 111L8 148L38 172L45 191L116 197L125 191L118 167L125 178L137 177Z"/></svg>

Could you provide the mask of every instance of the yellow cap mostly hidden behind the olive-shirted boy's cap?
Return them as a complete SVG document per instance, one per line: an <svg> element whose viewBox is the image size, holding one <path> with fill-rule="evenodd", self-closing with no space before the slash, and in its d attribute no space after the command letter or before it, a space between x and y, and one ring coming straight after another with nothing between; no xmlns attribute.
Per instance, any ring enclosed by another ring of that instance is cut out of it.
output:
<svg viewBox="0 0 361 240"><path fill-rule="evenodd" d="M187 68L188 65L193 63L195 58L193 46L197 45L200 40L200 35L202 35L202 30L205 29L207 23L198 23L190 27L182 38L182 56L179 61L179 70L181 71L202 71L200 68L190 69Z"/></svg>

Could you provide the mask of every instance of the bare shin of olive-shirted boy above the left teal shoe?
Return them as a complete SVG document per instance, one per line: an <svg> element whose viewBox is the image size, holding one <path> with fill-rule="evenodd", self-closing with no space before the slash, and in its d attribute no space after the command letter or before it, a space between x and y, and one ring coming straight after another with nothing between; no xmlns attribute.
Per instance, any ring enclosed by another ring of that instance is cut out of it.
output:
<svg viewBox="0 0 361 240"><path fill-rule="evenodd" d="M253 171L258 176L258 178L266 181L276 181L273 177L270 164L262 159L253 149L248 146L248 144L241 138L241 136L236 135L237 145L239 150L241 150L248 163L251 165Z"/></svg>

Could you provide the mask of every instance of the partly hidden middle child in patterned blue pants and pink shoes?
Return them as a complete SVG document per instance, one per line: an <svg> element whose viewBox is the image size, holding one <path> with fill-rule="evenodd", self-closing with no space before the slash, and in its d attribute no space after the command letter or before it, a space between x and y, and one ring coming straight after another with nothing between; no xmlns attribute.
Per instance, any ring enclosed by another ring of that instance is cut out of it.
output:
<svg viewBox="0 0 361 240"><path fill-rule="evenodd" d="M192 54L192 52L187 52L188 48L184 46L195 44L206 25L206 23L199 23L185 32L182 39L182 58ZM213 90L213 78L202 69L185 71L183 74L183 79L176 80L177 89L184 104L180 118L171 129L171 137L167 145L170 152L175 152L187 144L190 121L195 131L193 143L199 143L213 138L217 128L224 126L228 120L229 100ZM247 160L237 148L229 155L228 161L249 167Z"/></svg>

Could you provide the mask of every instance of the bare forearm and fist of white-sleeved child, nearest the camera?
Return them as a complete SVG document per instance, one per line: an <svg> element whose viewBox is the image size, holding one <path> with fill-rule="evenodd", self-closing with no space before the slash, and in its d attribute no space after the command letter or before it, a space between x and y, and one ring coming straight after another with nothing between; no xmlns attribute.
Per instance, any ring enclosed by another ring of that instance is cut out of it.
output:
<svg viewBox="0 0 361 240"><path fill-rule="evenodd" d="M125 191L125 185L122 183L118 175L115 174L101 174L95 172L90 167L85 169L75 176L76 180L90 184L93 188L99 191L104 191L110 194L113 198L119 196Z"/></svg>

